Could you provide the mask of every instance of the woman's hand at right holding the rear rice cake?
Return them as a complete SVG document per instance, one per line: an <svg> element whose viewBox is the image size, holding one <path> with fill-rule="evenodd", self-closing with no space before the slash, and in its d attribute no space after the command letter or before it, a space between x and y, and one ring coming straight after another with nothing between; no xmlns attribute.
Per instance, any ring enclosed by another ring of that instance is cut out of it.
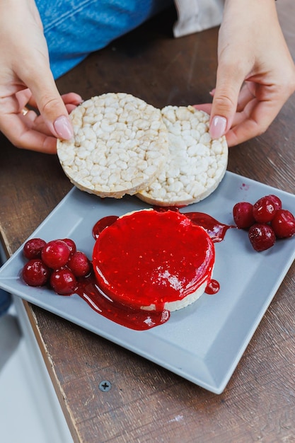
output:
<svg viewBox="0 0 295 443"><path fill-rule="evenodd" d="M294 91L274 0L226 0L213 103L196 105L210 114L212 137L233 146L262 134Z"/></svg>

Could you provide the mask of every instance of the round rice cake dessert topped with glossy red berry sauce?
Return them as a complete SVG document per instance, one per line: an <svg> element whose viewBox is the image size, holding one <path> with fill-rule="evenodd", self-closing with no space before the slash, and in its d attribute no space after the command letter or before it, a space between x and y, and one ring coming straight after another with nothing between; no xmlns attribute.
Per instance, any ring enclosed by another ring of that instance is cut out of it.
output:
<svg viewBox="0 0 295 443"><path fill-rule="evenodd" d="M143 209L103 229L93 248L98 287L136 309L175 311L211 281L214 244L185 214Z"/></svg>

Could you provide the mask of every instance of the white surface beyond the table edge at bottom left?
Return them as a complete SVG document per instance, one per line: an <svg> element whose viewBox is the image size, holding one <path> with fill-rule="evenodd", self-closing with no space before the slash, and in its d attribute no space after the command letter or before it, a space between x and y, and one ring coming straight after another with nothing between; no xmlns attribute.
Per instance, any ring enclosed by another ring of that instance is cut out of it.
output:
<svg viewBox="0 0 295 443"><path fill-rule="evenodd" d="M25 325L25 315L22 301L16 299L8 314L0 318L0 441L73 443L35 337Z"/></svg>

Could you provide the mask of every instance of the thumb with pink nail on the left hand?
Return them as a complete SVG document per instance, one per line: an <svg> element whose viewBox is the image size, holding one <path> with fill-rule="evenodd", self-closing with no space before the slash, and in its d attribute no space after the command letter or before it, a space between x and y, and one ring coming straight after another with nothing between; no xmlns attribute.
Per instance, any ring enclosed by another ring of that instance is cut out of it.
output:
<svg viewBox="0 0 295 443"><path fill-rule="evenodd" d="M62 97L57 90L51 71L49 75L37 76L37 81L28 84L37 108L50 132L59 139L71 139L73 127ZM29 82L28 82L29 83Z"/></svg>

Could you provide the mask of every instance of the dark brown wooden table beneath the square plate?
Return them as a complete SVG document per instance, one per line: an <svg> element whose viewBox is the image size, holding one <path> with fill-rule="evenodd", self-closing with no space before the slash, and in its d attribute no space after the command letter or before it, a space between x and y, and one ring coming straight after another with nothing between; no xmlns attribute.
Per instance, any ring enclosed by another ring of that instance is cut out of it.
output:
<svg viewBox="0 0 295 443"><path fill-rule="evenodd" d="M277 8L295 57L294 0ZM174 20L171 10L91 55L59 79L60 91L126 91L158 107L208 101L218 30L173 40ZM264 135L231 149L229 171L294 192L294 116L295 96ZM11 255L71 184L56 156L0 143L0 233ZM294 292L292 265L220 396L25 306L75 442L294 442ZM100 391L102 380L110 391Z"/></svg>

